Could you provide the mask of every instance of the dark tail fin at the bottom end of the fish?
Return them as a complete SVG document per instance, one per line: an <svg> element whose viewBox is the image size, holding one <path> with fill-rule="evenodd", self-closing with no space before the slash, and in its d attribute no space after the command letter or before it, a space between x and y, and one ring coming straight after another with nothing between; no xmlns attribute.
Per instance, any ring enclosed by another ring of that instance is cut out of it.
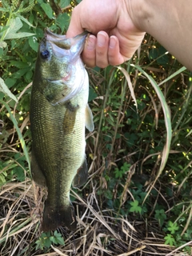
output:
<svg viewBox="0 0 192 256"><path fill-rule="evenodd" d="M42 231L56 230L59 226L67 226L69 230L77 227L74 206L50 206L46 201L42 218Z"/></svg>

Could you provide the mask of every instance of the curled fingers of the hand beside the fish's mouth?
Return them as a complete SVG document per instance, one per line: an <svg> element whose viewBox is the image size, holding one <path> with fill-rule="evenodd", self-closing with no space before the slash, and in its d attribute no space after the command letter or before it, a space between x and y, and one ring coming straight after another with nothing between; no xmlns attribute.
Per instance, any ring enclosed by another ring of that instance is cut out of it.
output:
<svg viewBox="0 0 192 256"><path fill-rule="evenodd" d="M115 36L109 38L104 31L98 32L97 38L90 34L82 52L82 60L86 66L101 68L120 65L125 61L119 50L118 38Z"/></svg>

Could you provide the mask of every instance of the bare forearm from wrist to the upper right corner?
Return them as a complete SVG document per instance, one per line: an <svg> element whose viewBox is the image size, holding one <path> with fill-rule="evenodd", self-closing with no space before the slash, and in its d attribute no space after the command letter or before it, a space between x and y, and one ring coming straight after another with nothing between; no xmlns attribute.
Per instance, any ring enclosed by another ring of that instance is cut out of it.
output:
<svg viewBox="0 0 192 256"><path fill-rule="evenodd" d="M192 1L127 0L128 11L139 30L151 34L192 70Z"/></svg>

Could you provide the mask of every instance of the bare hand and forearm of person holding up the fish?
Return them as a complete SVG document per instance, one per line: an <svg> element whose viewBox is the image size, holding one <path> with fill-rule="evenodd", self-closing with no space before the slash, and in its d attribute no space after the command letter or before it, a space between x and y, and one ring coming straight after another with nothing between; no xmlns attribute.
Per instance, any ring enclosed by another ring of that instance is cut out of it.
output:
<svg viewBox="0 0 192 256"><path fill-rule="evenodd" d="M106 67L130 59L147 32L192 70L191 10L191 0L83 0L73 10L66 36L88 30L83 62Z"/></svg>

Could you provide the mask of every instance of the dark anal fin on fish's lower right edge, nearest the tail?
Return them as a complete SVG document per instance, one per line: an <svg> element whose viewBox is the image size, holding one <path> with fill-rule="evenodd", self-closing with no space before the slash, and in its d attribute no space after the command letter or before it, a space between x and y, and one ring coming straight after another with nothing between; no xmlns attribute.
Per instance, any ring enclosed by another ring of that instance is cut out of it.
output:
<svg viewBox="0 0 192 256"><path fill-rule="evenodd" d="M86 182L87 177L88 177L88 168L87 168L87 163L85 158L85 161L83 162L82 166L78 168L78 172L74 176L73 186L74 187L82 186Z"/></svg>

